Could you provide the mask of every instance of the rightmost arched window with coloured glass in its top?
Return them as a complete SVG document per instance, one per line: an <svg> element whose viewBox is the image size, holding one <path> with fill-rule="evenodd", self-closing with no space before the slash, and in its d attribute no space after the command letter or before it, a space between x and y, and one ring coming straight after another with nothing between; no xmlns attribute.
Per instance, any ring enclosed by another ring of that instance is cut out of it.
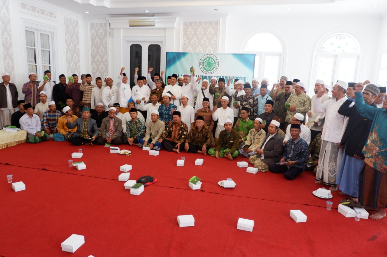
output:
<svg viewBox="0 0 387 257"><path fill-rule="evenodd" d="M337 80L357 81L360 56L360 44L355 37L344 33L329 36L318 49L315 79L323 79L331 86Z"/></svg>

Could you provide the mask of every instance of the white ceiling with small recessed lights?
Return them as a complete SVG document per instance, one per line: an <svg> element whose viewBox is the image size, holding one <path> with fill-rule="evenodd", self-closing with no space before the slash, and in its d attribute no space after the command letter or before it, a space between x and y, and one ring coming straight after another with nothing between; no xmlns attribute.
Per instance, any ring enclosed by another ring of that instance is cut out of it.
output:
<svg viewBox="0 0 387 257"><path fill-rule="evenodd" d="M116 15L387 15L386 0L43 0L85 18ZM372 8L378 6L378 8ZM292 8L288 10L288 8ZM214 10L218 9L218 10ZM149 12L144 12L149 10ZM86 14L85 12L89 12Z"/></svg>

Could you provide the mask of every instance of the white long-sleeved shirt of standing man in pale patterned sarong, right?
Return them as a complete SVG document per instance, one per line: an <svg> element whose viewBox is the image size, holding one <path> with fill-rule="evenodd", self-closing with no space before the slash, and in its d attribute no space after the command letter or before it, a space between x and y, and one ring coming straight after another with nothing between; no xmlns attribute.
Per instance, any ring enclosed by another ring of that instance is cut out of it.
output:
<svg viewBox="0 0 387 257"><path fill-rule="evenodd" d="M341 105L347 100L344 96L336 101L336 99L329 99L324 103L320 103L320 99L314 103L314 110L317 112L317 119L320 115L325 114L324 130L321 134L321 139L332 143L341 142L342 130L345 130L345 116L340 115L337 111Z"/></svg>

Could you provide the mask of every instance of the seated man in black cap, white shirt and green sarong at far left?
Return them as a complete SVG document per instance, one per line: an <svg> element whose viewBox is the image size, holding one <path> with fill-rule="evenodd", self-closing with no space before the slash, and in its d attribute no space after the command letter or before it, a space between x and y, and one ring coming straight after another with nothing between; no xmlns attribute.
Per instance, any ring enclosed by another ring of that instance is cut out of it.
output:
<svg viewBox="0 0 387 257"><path fill-rule="evenodd" d="M24 105L26 113L20 118L20 128L27 131L27 140L29 143L40 143L43 140L50 140L50 135L41 131L39 116L34 114L34 108L31 103Z"/></svg>

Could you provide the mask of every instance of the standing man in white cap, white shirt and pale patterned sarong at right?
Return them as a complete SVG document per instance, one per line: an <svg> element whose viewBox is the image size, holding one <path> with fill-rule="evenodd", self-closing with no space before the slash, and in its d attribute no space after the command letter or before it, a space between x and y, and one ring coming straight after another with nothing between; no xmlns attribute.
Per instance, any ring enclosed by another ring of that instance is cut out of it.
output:
<svg viewBox="0 0 387 257"><path fill-rule="evenodd" d="M345 116L337 111L347 100L346 90L348 84L344 81L337 81L332 89L332 99L320 103L320 98L325 94L325 89L317 93L314 102L314 110L317 117L314 120L319 122L325 114L324 130L321 134L321 150L319 164L317 165L316 183L330 185L329 190L337 191L337 171L339 170L342 158L340 142L346 128Z"/></svg>

